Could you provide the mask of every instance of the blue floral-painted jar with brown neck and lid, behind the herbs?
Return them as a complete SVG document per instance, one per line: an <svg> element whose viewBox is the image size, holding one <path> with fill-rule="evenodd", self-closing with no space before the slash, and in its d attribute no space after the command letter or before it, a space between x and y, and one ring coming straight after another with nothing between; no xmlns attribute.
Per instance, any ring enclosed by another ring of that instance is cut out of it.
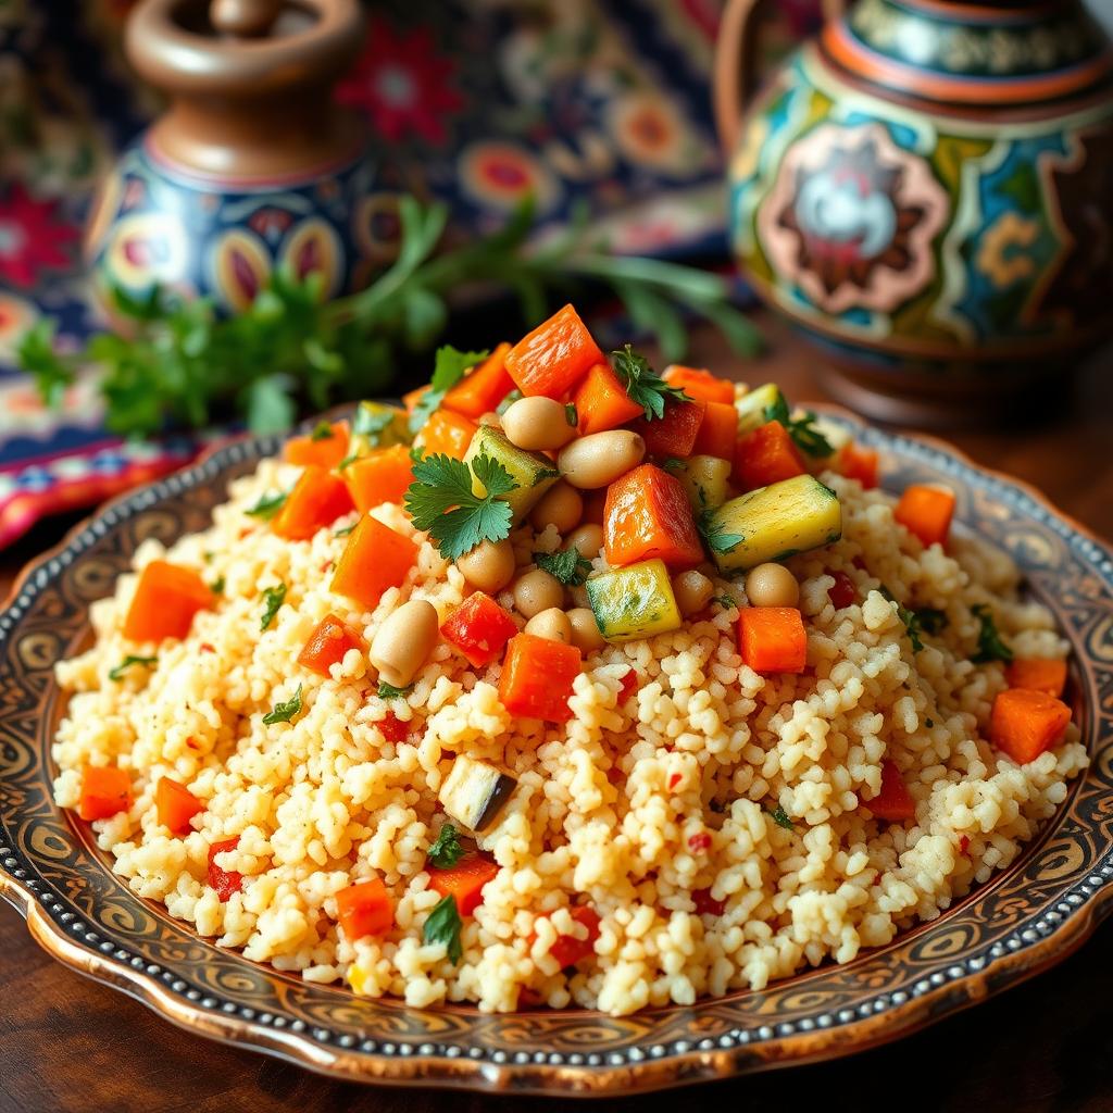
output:
<svg viewBox="0 0 1113 1113"><path fill-rule="evenodd" d="M252 303L270 272L357 287L393 246L393 197L332 100L361 45L356 0L142 0L128 58L169 108L120 157L87 230L95 287Z"/></svg>

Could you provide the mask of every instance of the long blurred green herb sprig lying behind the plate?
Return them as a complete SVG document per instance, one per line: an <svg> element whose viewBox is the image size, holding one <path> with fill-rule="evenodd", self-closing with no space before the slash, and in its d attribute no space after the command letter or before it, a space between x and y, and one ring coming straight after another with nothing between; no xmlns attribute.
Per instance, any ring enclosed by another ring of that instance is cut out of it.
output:
<svg viewBox="0 0 1113 1113"><path fill-rule="evenodd" d="M394 262L345 297L328 301L319 273L299 278L285 267L232 315L213 299L177 290L156 286L136 296L117 288L110 297L114 319L122 318L119 332L67 352L56 343L57 323L43 317L23 334L18 359L51 405L91 368L108 427L148 436L225 416L245 417L255 433L283 432L303 405L324 410L338 398L382 393L404 353L436 343L449 297L469 285L513 292L529 326L545 316L551 295L567 296L577 285L609 288L634 325L660 341L669 362L682 359L687 346L678 307L709 319L740 355L760 346L757 331L730 304L729 279L614 253L587 208L543 246L532 243L532 199L499 230L442 250L447 218L442 203L401 197Z"/></svg>

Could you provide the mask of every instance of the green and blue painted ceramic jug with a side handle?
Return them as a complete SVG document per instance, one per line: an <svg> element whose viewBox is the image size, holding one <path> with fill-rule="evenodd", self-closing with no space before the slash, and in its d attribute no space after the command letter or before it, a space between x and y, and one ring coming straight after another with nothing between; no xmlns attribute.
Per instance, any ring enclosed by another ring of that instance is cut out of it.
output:
<svg viewBox="0 0 1113 1113"><path fill-rule="evenodd" d="M1113 52L1078 0L858 0L743 116L756 3L717 58L735 252L837 391L984 416L1109 332Z"/></svg>

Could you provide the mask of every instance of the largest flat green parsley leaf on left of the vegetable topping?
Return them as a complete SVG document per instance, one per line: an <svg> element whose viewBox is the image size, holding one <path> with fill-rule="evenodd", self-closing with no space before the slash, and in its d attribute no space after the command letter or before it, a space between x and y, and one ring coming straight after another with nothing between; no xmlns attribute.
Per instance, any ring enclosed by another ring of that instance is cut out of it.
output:
<svg viewBox="0 0 1113 1113"><path fill-rule="evenodd" d="M483 484L482 498L472 492L472 471ZM414 482L405 493L405 509L418 530L429 531L445 560L460 560L481 541L510 536L513 512L502 495L515 483L498 460L476 456L472 470L460 460L436 454L414 462Z"/></svg>

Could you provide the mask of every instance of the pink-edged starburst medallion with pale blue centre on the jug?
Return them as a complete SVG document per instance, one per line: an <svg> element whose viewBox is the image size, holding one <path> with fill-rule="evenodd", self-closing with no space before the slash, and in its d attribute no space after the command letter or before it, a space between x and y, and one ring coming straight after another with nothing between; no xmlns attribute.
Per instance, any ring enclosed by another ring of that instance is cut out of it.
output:
<svg viewBox="0 0 1113 1113"><path fill-rule="evenodd" d="M758 213L775 270L827 313L892 312L935 274L947 198L879 125L825 124L789 149Z"/></svg>

